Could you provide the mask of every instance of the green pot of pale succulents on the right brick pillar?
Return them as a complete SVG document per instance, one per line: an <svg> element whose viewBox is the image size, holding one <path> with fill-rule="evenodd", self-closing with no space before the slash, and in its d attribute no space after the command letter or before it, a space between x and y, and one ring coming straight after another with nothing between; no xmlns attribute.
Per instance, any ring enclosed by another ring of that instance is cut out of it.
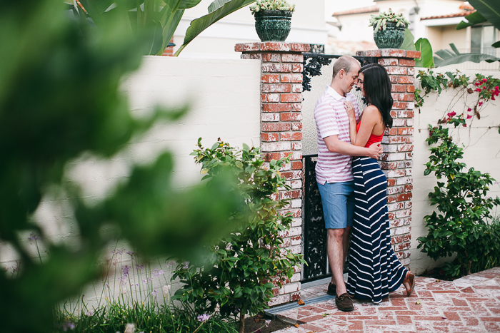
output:
<svg viewBox="0 0 500 333"><path fill-rule="evenodd" d="M396 14L389 8L389 14L382 11L371 15L370 25L374 27L374 40L379 48L399 48L404 41L404 31L410 22L402 14Z"/></svg>

